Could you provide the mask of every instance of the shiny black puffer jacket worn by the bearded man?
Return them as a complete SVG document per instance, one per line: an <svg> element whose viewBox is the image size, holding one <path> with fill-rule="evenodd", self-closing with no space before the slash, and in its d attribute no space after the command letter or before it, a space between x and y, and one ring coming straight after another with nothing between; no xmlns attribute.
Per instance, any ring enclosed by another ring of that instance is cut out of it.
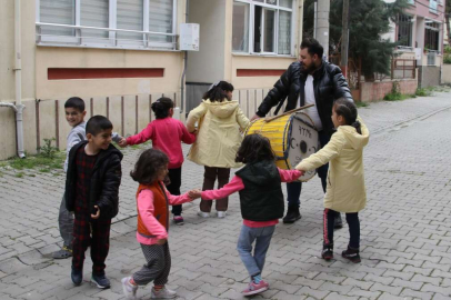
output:
<svg viewBox="0 0 451 300"><path fill-rule="evenodd" d="M278 82L275 82L274 88L269 91L268 96L260 104L257 114L259 117L264 117L272 107L283 103L287 97L288 102L285 111L295 109L301 91L301 100L303 101L305 98L304 86L308 74L302 71L302 64L299 61L291 63ZM324 61L313 73L313 89L318 113L320 114L323 130L332 132L333 123L331 114L333 101L341 97L353 101L348 82L339 67Z"/></svg>

